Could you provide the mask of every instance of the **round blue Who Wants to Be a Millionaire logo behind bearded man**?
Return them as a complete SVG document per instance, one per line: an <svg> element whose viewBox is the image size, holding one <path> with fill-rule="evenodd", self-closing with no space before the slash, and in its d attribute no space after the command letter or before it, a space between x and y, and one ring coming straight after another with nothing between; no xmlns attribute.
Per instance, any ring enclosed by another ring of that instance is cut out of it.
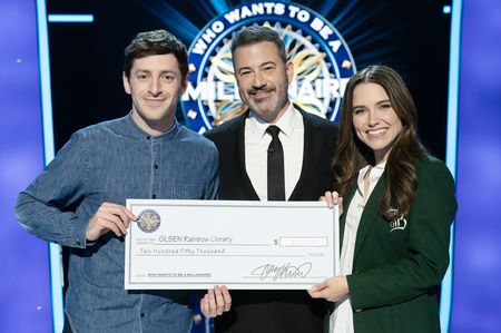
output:
<svg viewBox="0 0 501 333"><path fill-rule="evenodd" d="M356 68L338 31L318 13L292 2L253 2L235 7L207 23L189 48L189 85L183 96L187 125L204 133L244 114L234 77L233 33L267 26L282 37L294 65L291 100L304 110L338 119L341 97Z"/></svg>

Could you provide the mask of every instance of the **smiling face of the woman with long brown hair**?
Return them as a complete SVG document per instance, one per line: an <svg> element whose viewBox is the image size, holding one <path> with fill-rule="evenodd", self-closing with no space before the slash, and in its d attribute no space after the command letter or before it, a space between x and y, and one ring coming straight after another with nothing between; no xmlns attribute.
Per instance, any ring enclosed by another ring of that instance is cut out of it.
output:
<svg viewBox="0 0 501 333"><path fill-rule="evenodd" d="M352 112L358 139L374 151L376 164L386 160L403 127L384 88L372 82L358 84L353 90Z"/></svg>

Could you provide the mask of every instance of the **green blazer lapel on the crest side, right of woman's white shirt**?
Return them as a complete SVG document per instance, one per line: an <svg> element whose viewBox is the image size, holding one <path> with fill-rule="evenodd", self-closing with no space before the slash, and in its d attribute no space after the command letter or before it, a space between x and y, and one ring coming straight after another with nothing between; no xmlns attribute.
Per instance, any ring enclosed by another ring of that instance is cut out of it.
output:
<svg viewBox="0 0 501 333"><path fill-rule="evenodd" d="M365 205L364 212L362 213L362 216L360 218L358 231L356 232L355 252L353 254L353 262L356 261L356 256L360 253L362 243L364 242L365 236L367 235L372 224L375 221L376 215L379 214L380 199L383 196L384 192L384 183L385 183L384 178L385 177L383 174L380 180L377 182L376 186L372 190L371 196L369 197L369 200Z"/></svg>

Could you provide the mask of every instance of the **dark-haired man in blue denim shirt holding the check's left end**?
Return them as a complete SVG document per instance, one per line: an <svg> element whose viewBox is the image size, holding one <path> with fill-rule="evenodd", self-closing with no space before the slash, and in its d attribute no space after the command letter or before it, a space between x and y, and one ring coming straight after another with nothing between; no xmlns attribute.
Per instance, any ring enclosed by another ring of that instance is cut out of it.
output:
<svg viewBox="0 0 501 333"><path fill-rule="evenodd" d="M124 290L127 198L214 199L218 155L176 123L187 87L186 47L165 30L125 50L132 110L81 129L18 197L30 233L70 247L66 314L73 332L187 332L187 291Z"/></svg>

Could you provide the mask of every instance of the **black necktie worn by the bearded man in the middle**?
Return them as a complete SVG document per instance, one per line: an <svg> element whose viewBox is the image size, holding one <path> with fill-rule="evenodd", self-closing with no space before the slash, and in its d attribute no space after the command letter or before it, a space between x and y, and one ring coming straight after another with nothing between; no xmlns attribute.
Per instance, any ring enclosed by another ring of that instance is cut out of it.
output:
<svg viewBox="0 0 501 333"><path fill-rule="evenodd" d="M272 125L266 131L272 135L268 146L268 200L285 202L284 149L278 138L281 129Z"/></svg>

